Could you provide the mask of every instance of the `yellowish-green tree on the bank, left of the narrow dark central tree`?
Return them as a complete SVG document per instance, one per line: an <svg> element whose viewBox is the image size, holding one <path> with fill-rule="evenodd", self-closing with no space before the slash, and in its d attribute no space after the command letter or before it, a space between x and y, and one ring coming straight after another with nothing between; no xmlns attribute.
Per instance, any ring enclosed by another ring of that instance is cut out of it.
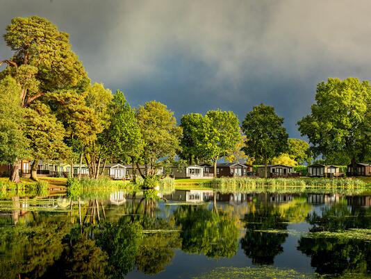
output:
<svg viewBox="0 0 371 279"><path fill-rule="evenodd" d="M174 158L180 149L182 131L173 115L174 112L157 101L145 103L135 113L145 143L140 161L147 166L149 176L156 174L160 158ZM145 178L145 174L141 175Z"/></svg>

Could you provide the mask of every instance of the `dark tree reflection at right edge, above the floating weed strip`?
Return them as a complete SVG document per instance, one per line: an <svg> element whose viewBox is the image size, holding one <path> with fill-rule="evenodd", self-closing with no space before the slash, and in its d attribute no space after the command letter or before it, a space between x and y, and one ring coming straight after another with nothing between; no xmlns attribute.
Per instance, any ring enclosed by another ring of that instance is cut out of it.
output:
<svg viewBox="0 0 371 279"><path fill-rule="evenodd" d="M322 214L308 214L306 221L313 225L311 232L371 228L370 214L371 208L350 209L346 203L336 203L322 208Z"/></svg>

